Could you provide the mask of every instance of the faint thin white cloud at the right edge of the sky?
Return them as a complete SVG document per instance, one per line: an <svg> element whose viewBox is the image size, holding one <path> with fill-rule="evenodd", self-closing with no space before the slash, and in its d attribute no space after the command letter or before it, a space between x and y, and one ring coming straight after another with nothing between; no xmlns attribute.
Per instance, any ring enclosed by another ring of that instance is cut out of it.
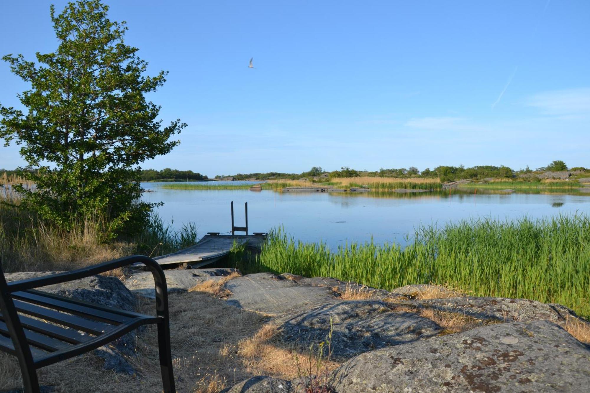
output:
<svg viewBox="0 0 590 393"><path fill-rule="evenodd" d="M526 105L552 115L590 114L590 88L545 91L529 97Z"/></svg>

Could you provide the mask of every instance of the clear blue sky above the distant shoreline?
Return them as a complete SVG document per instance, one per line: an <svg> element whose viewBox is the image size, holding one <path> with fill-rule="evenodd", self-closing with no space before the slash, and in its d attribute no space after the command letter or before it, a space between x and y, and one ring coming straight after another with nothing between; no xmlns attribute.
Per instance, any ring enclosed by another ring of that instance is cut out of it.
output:
<svg viewBox="0 0 590 393"><path fill-rule="evenodd" d="M189 125L144 168L590 167L586 0L106 3L169 71L162 119ZM49 4L2 2L0 54L57 47ZM2 62L0 103L26 88ZM22 164L0 148L0 168Z"/></svg>

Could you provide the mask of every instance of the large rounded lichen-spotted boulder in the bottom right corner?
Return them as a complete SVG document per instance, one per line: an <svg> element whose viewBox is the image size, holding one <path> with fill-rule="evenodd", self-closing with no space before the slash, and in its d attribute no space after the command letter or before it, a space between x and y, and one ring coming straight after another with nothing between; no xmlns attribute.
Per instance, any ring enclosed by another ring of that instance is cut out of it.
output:
<svg viewBox="0 0 590 393"><path fill-rule="evenodd" d="M366 352L338 368L348 392L584 392L590 349L548 321L500 323Z"/></svg>

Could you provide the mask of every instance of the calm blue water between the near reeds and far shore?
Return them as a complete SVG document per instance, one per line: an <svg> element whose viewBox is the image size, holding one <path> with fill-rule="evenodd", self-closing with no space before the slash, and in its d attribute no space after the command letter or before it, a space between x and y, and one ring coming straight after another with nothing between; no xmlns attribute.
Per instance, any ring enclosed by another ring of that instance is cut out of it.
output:
<svg viewBox="0 0 590 393"><path fill-rule="evenodd" d="M232 184L239 184L233 182ZM230 202L234 201L235 225L244 225L248 202L250 232L266 232L283 225L303 241L325 241L331 247L346 241L371 239L379 243L405 244L405 235L421 224L444 224L466 218L500 220L590 214L588 195L467 194L437 192L385 194L375 197L350 193L294 193L249 190L172 190L161 183L143 183L143 198L164 202L157 209L164 220L179 228L194 222L199 237L207 232L231 230Z"/></svg>

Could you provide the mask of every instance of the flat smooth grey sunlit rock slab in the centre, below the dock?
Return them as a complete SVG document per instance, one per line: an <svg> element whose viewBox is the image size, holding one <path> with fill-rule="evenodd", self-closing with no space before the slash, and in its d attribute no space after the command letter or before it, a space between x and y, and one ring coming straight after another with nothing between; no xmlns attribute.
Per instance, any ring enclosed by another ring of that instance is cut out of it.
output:
<svg viewBox="0 0 590 393"><path fill-rule="evenodd" d="M336 298L327 287L302 286L273 273L237 277L224 284L231 296L227 303L245 310L281 315L302 307L312 307Z"/></svg>

